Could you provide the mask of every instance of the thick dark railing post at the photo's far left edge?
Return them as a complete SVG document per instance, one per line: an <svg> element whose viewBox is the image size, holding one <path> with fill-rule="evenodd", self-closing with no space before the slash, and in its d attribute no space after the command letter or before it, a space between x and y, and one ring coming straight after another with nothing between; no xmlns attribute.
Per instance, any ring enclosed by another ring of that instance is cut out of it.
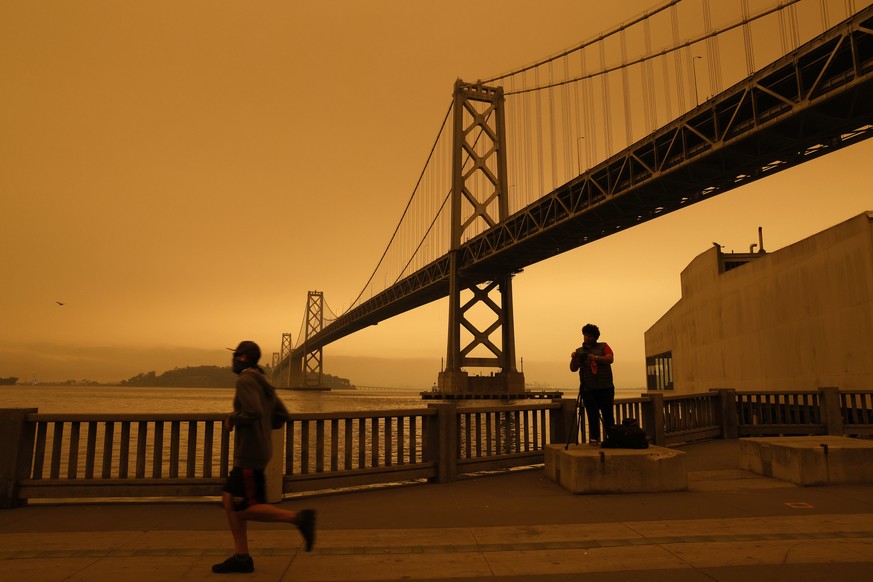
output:
<svg viewBox="0 0 873 582"><path fill-rule="evenodd" d="M36 427L27 422L28 414L36 408L7 408L0 410L0 508L8 509L27 504L18 498L22 479L30 474L33 463L33 442Z"/></svg>

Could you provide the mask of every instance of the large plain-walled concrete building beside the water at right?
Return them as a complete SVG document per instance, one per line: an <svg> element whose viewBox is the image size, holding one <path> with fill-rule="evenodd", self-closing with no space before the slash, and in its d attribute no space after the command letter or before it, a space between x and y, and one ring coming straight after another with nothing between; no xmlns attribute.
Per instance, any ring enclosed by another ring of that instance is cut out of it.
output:
<svg viewBox="0 0 873 582"><path fill-rule="evenodd" d="M873 389L873 212L775 252L714 245L681 282L645 333L649 390Z"/></svg>

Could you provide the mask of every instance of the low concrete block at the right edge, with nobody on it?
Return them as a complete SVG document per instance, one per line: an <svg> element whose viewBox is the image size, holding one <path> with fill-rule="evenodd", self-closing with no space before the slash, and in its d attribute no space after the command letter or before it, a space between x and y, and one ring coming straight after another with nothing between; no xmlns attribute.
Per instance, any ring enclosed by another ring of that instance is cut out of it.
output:
<svg viewBox="0 0 873 582"><path fill-rule="evenodd" d="M873 483L873 441L841 436L743 438L740 467L804 486Z"/></svg>

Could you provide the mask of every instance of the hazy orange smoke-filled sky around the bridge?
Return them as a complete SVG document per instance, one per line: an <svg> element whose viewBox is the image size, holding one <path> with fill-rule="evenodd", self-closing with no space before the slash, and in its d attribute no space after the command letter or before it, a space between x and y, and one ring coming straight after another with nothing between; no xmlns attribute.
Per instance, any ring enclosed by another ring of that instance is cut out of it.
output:
<svg viewBox="0 0 873 582"><path fill-rule="evenodd" d="M337 311L357 295L456 78L554 54L653 3L0 4L0 376L226 364L240 339L278 351L308 290ZM873 143L853 146L526 269L514 291L528 382L573 386L567 355L591 321L617 383L644 385L643 333L679 299L686 264L713 241L747 250L758 226L775 250L873 209L870 159ZM446 318L440 301L346 338L326 371L429 387Z"/></svg>

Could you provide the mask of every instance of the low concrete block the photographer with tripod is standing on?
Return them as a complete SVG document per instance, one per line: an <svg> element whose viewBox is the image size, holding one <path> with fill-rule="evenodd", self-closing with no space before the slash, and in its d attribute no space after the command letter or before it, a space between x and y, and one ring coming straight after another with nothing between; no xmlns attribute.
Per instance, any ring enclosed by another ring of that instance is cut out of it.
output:
<svg viewBox="0 0 873 582"><path fill-rule="evenodd" d="M547 445L545 473L571 493L652 493L688 489L685 453L664 447L600 449Z"/></svg>

